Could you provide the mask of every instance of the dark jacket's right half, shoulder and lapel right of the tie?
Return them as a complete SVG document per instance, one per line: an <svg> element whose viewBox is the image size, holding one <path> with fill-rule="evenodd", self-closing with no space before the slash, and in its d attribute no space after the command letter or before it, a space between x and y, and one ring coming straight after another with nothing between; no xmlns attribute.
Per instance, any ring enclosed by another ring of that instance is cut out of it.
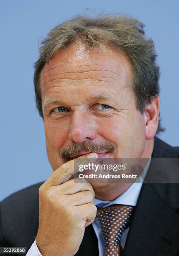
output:
<svg viewBox="0 0 179 256"><path fill-rule="evenodd" d="M177 158L177 154L155 137L152 158ZM178 184L143 184L123 256L174 256L178 253L179 205L174 200L178 198L178 189Z"/></svg>

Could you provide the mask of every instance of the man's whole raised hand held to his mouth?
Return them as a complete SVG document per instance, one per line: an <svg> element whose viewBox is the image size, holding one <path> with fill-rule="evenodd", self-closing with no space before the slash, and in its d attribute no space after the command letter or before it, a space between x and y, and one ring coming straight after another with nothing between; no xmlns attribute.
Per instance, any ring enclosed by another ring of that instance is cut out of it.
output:
<svg viewBox="0 0 179 256"><path fill-rule="evenodd" d="M77 158L97 158L90 153ZM74 183L74 159L61 165L39 189L39 227L36 244L43 256L77 253L84 229L96 217L95 192L89 182ZM70 179L70 180L69 180Z"/></svg>

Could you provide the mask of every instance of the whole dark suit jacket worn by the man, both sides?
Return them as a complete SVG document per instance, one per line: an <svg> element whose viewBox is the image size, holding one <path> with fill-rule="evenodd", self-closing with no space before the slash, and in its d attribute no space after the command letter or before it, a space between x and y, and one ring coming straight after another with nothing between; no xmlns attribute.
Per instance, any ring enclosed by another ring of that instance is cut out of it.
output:
<svg viewBox="0 0 179 256"><path fill-rule="evenodd" d="M179 147L169 146L155 137L152 158L177 157ZM16 192L0 203L0 247L27 247L27 251L31 247L38 230L38 189L42 183ZM92 225L85 228L76 255L98 255ZM143 184L123 255L179 255L179 184Z"/></svg>

